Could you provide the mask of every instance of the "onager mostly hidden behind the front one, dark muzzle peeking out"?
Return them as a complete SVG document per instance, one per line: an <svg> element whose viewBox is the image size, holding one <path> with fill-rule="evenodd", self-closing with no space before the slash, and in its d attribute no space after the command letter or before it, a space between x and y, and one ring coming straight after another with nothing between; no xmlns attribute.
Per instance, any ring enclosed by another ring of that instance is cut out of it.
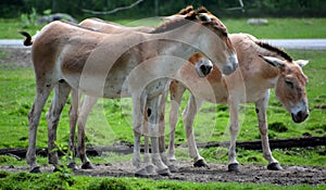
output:
<svg viewBox="0 0 326 190"><path fill-rule="evenodd" d="M179 11L177 14L167 17L167 20L173 20L175 16L178 15L185 15L188 14L189 12L193 11L192 7L187 7L186 9L183 9ZM205 10L202 10L201 12L204 12ZM220 23L222 27L224 27L223 23L214 15L212 15L210 12L205 12L206 14L210 15L214 22ZM137 31L143 31L143 33L151 33L154 28L152 27L147 27L147 26L140 26L140 27L126 27L122 26L115 23L111 22L105 22L99 18L87 18L79 23L79 25L89 27L91 29L95 29L97 31L105 33L105 34L118 34L118 33L124 33L126 30L137 30ZM222 37L223 38L223 37ZM227 38L224 39L224 42L227 43ZM231 51L230 51L231 52ZM208 64L210 61L206 58L203 58L201 54L197 53L192 55L189 60L189 63L192 63L196 66L197 74L200 77L206 76L211 72L211 65ZM235 60L236 61L236 60ZM189 65L188 65L189 66ZM79 96L76 91L73 90L73 96L72 96L72 105L71 105L71 111L70 111L70 126L71 126L71 135L70 135L70 150L74 153L73 160L68 164L68 166L73 169L77 169L76 162L75 162L75 155L79 156L83 164L82 168L87 169L87 168L93 168L91 165L90 161L88 160L86 155L86 148L85 148L85 125L87 122L87 117L97 102L98 98L97 97L91 97L91 96L85 96L83 100L83 104L80 105L80 110L78 113L78 104L79 104ZM164 112L164 109L162 110ZM164 115L162 115L161 119L164 121ZM76 124L78 126L78 135L77 135L77 149L75 149L75 129L76 129ZM162 124L163 125L163 124ZM160 141L164 141L164 137L160 137ZM160 154L161 157L163 159L164 163L168 166L171 166L173 169L174 166L170 165L168 160L166 159L165 155L165 148L164 144L162 144L162 148L160 149Z"/></svg>

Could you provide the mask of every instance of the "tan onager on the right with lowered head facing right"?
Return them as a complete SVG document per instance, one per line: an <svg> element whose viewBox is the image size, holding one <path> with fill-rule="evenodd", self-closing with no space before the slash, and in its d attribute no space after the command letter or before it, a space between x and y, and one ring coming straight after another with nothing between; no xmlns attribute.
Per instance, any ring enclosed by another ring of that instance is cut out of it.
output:
<svg viewBox="0 0 326 190"><path fill-rule="evenodd" d="M215 99L210 99L206 89L193 88L193 83L200 84L205 78L199 78L193 71L186 71L184 66L178 72L177 78L188 80L172 81L170 87L172 109L170 114L170 144L168 157L175 160L174 155L174 132L178 118L178 107L181 97L188 88L191 97L184 111L184 124L188 139L189 155L197 166L208 166L203 157L199 155L193 137L193 118L203 101L212 103L227 103L230 112L230 148L229 148L229 170L238 170L239 163L236 160L236 139L239 131L238 110L240 103L254 102L259 121L259 129L262 138L263 154L268 161L268 169L281 169L278 161L272 155L268 136L266 109L269 99L269 89L274 88L276 97L285 109L291 113L296 123L305 121L309 116L308 99L305 94L306 76L301 67L308 61L293 61L284 51L259 41L251 35L230 35L230 40L236 48L239 68L229 76L223 77L218 69L213 68L206 79L211 83ZM268 63L268 64L267 64ZM192 90L195 89L195 90Z"/></svg>

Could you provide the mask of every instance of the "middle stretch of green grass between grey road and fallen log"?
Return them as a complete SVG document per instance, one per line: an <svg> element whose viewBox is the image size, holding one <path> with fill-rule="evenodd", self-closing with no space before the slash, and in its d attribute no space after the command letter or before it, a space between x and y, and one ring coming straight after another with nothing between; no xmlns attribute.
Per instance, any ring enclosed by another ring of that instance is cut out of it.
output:
<svg viewBox="0 0 326 190"><path fill-rule="evenodd" d="M289 51L296 59L308 59L310 64L303 71L309 76L306 92L311 115L302 124L294 124L290 114L283 109L274 92L267 110L268 124L280 123L286 127L286 131L269 130L269 137L290 138L302 137L303 135L325 136L325 110L318 109L318 105L325 104L325 51ZM33 68L21 68L16 66L0 65L0 127L3 132L0 134L0 147L27 147L28 119L27 114L32 107L35 98L35 79ZM51 98L46 105L40 125L38 128L37 147L47 147L47 122L46 112L49 109ZM184 97L181 107L187 103L187 96ZM61 115L58 143L68 141L68 104L64 107ZM166 126L168 126L168 110L166 109ZM181 114L181 109L179 114ZM240 111L241 130L238 140L260 139L258 122L252 103L244 104ZM131 130L131 101L122 100L100 100L91 111L86 134L87 143L96 145L108 145L113 142L124 140L133 142ZM228 110L226 105L214 105L204 103L195 122L196 138L199 142L228 140ZM166 128L166 135L168 127ZM185 131L181 118L179 118L176 131L176 142L185 142Z"/></svg>

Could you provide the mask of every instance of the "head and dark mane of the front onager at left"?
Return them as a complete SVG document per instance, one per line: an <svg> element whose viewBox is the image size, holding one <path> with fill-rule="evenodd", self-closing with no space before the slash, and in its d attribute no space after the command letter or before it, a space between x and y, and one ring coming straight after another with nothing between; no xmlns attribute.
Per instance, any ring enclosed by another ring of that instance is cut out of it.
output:
<svg viewBox="0 0 326 190"><path fill-rule="evenodd" d="M208 30L203 29L201 35L204 39L202 41L214 41L214 43L211 42L212 45L205 43L198 46L206 47L206 49L210 50L209 52L203 53L208 53L211 61L223 74L229 75L238 67L237 53L228 37L227 28L215 15L205 8L193 10L192 7L187 7L177 14L167 16L164 20L174 21L180 17L197 22L212 31L208 33Z"/></svg>

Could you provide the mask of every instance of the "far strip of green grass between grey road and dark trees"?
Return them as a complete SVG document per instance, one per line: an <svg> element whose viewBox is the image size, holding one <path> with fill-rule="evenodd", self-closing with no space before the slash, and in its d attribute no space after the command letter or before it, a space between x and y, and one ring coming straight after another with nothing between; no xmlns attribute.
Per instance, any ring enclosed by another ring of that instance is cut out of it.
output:
<svg viewBox="0 0 326 190"><path fill-rule="evenodd" d="M222 18L229 33L249 33L258 38L326 38L326 18L268 18L266 26L251 26L247 18ZM159 18L113 21L128 26L156 26ZM20 39L17 30L36 34L42 26L24 26L20 20L0 20L0 39Z"/></svg>

